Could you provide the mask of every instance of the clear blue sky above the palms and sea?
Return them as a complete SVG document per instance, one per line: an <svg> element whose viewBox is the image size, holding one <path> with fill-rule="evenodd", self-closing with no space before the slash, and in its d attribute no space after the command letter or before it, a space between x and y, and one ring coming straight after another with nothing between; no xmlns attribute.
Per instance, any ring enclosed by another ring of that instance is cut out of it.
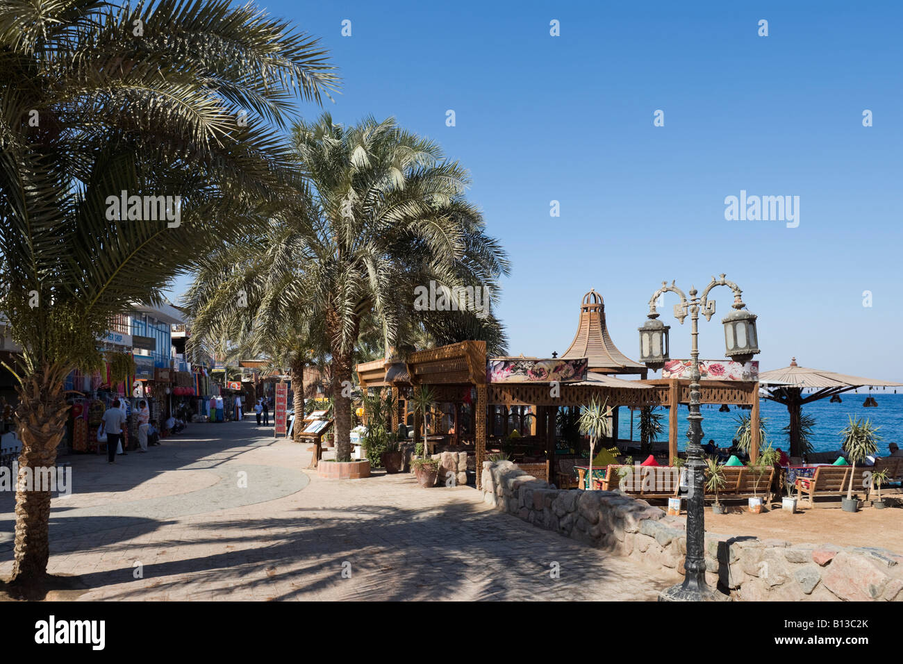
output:
<svg viewBox="0 0 903 664"><path fill-rule="evenodd" d="M326 107L338 121L394 116L470 169L470 199L513 263L497 307L512 353L563 352L595 288L612 337L636 357L663 279L686 291L725 272L759 314L761 369L796 356L903 379L888 342L903 325L903 5L261 4L330 50L343 88ZM656 109L665 126L653 126ZM740 190L799 196L799 226L725 220L724 199ZM724 352L730 291L712 296L703 358ZM672 357L688 357L675 302L660 311Z"/></svg>

